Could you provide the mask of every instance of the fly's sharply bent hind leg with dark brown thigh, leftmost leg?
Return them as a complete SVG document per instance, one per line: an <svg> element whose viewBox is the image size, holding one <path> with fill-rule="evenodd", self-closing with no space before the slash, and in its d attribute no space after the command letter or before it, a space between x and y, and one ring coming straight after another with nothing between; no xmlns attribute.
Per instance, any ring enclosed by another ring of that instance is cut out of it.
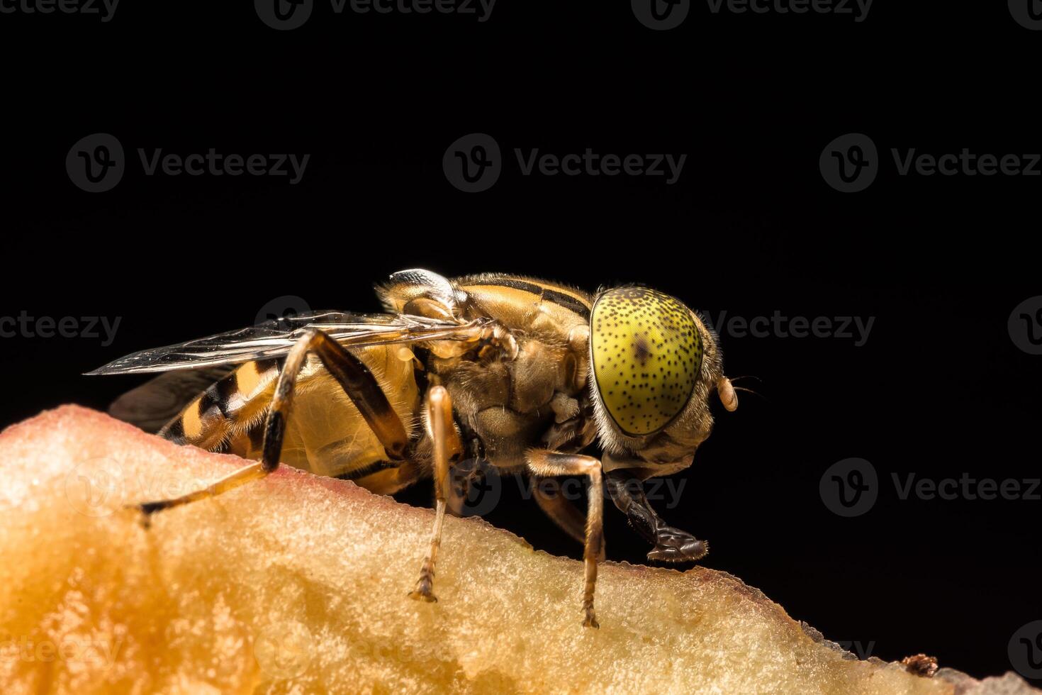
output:
<svg viewBox="0 0 1042 695"><path fill-rule="evenodd" d="M196 490L172 499L135 505L146 515L146 519L163 510L207 497L216 497L250 480L263 478L278 468L278 460L282 452L282 440L286 435L286 422L293 404L297 375L309 352L315 352L319 356L326 371L344 389L366 423L379 439L380 444L383 445L388 456L402 458L408 444L408 436L372 372L358 357L351 354L326 333L317 328L311 328L290 350L286 356L286 363L282 365L282 371L278 375L275 393L272 396L265 422L260 461L252 466L242 468L202 490Z"/></svg>

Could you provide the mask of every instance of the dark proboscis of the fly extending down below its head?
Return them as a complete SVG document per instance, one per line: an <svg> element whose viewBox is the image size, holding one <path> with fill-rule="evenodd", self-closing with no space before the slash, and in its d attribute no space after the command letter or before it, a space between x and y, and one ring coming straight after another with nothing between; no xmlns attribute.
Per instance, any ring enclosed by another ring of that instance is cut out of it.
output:
<svg viewBox="0 0 1042 695"><path fill-rule="evenodd" d="M644 485L632 477L626 469L610 471L605 479L612 501L619 507L629 525L643 536L654 548L648 553L648 560L664 563L695 562L704 557L710 551L708 541L674 528L663 521L648 502L644 494Z"/></svg>

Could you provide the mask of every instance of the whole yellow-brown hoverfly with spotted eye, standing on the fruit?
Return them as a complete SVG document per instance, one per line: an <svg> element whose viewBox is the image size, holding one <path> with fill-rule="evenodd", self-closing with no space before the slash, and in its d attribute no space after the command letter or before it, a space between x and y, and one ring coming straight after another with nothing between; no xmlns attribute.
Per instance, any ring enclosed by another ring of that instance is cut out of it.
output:
<svg viewBox="0 0 1042 695"><path fill-rule="evenodd" d="M591 297L498 274L449 280L410 270L377 292L388 314L315 313L146 350L92 372L167 372L120 398L114 415L143 426L166 422L159 435L174 442L257 460L206 489L140 504L146 519L279 463L382 494L432 476L435 528L411 595L436 600L449 473L466 450L502 472L589 477L585 520L563 497L536 495L585 545L586 625L597 626L602 481L654 544L649 559L708 552L705 542L667 525L640 486L691 465L712 429L714 393L727 409L738 405L716 338L691 309L640 287ZM584 454L595 440L600 457Z"/></svg>

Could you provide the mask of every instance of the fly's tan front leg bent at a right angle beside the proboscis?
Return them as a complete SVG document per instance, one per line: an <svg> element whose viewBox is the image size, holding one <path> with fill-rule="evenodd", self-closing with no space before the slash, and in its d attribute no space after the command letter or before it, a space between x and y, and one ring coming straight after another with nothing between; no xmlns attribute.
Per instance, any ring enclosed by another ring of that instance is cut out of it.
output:
<svg viewBox="0 0 1042 695"><path fill-rule="evenodd" d="M586 619L582 624L587 627L600 627L593 612L593 592L597 584L597 555L604 537L604 497L600 482L600 461L577 453L557 453L545 449L531 449L528 451L528 469L536 475L587 475L590 478L586 545L582 550L582 562L586 566L582 592L582 610L586 613Z"/></svg>

